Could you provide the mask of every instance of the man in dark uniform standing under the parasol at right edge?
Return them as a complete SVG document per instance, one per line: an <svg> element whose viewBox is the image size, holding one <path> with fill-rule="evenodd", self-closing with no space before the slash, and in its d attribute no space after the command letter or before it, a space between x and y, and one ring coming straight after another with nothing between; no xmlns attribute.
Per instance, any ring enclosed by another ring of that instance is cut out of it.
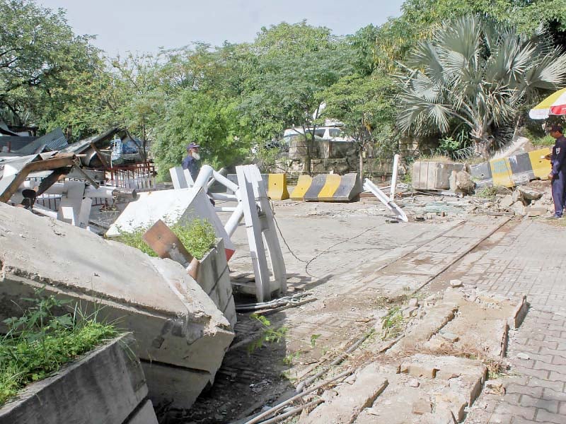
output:
<svg viewBox="0 0 566 424"><path fill-rule="evenodd" d="M550 136L556 139L550 163L553 169L548 174L552 180L554 216L551 219L562 218L566 201L566 137L562 125L554 124L550 127Z"/></svg>

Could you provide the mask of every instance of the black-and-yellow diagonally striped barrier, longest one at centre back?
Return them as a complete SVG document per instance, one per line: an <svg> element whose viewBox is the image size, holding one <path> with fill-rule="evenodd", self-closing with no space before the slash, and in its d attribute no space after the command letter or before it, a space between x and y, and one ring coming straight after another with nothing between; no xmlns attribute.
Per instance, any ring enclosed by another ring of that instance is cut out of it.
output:
<svg viewBox="0 0 566 424"><path fill-rule="evenodd" d="M293 200L352 201L362 192L357 173L346 175L320 174L311 178L301 175L291 194Z"/></svg>

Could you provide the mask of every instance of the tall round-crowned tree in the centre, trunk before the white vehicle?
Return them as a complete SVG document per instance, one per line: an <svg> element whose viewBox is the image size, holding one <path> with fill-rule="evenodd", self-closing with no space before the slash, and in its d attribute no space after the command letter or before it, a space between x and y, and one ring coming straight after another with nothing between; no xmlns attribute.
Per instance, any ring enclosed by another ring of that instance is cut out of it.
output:
<svg viewBox="0 0 566 424"><path fill-rule="evenodd" d="M310 173L319 94L352 71L351 49L328 28L305 21L262 28L251 49L255 69L244 85L243 117L260 140L279 136L287 126L302 127Z"/></svg>

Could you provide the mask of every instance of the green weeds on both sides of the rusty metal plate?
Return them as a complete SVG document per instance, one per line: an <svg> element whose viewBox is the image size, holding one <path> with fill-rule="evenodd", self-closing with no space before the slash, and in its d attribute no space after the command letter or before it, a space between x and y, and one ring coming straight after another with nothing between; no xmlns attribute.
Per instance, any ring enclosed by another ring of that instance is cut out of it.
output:
<svg viewBox="0 0 566 424"><path fill-rule="evenodd" d="M195 218L188 225L183 223L168 223L171 231L175 233L179 240L187 249L187 252L192 254L197 259L202 259L207 252L209 252L216 242L216 233L214 227L207 219ZM135 247L151 257L157 257L151 247L144 242L143 236L149 227L139 227L134 231L126 232L120 230L120 236L116 240L124 243L125 245Z"/></svg>

